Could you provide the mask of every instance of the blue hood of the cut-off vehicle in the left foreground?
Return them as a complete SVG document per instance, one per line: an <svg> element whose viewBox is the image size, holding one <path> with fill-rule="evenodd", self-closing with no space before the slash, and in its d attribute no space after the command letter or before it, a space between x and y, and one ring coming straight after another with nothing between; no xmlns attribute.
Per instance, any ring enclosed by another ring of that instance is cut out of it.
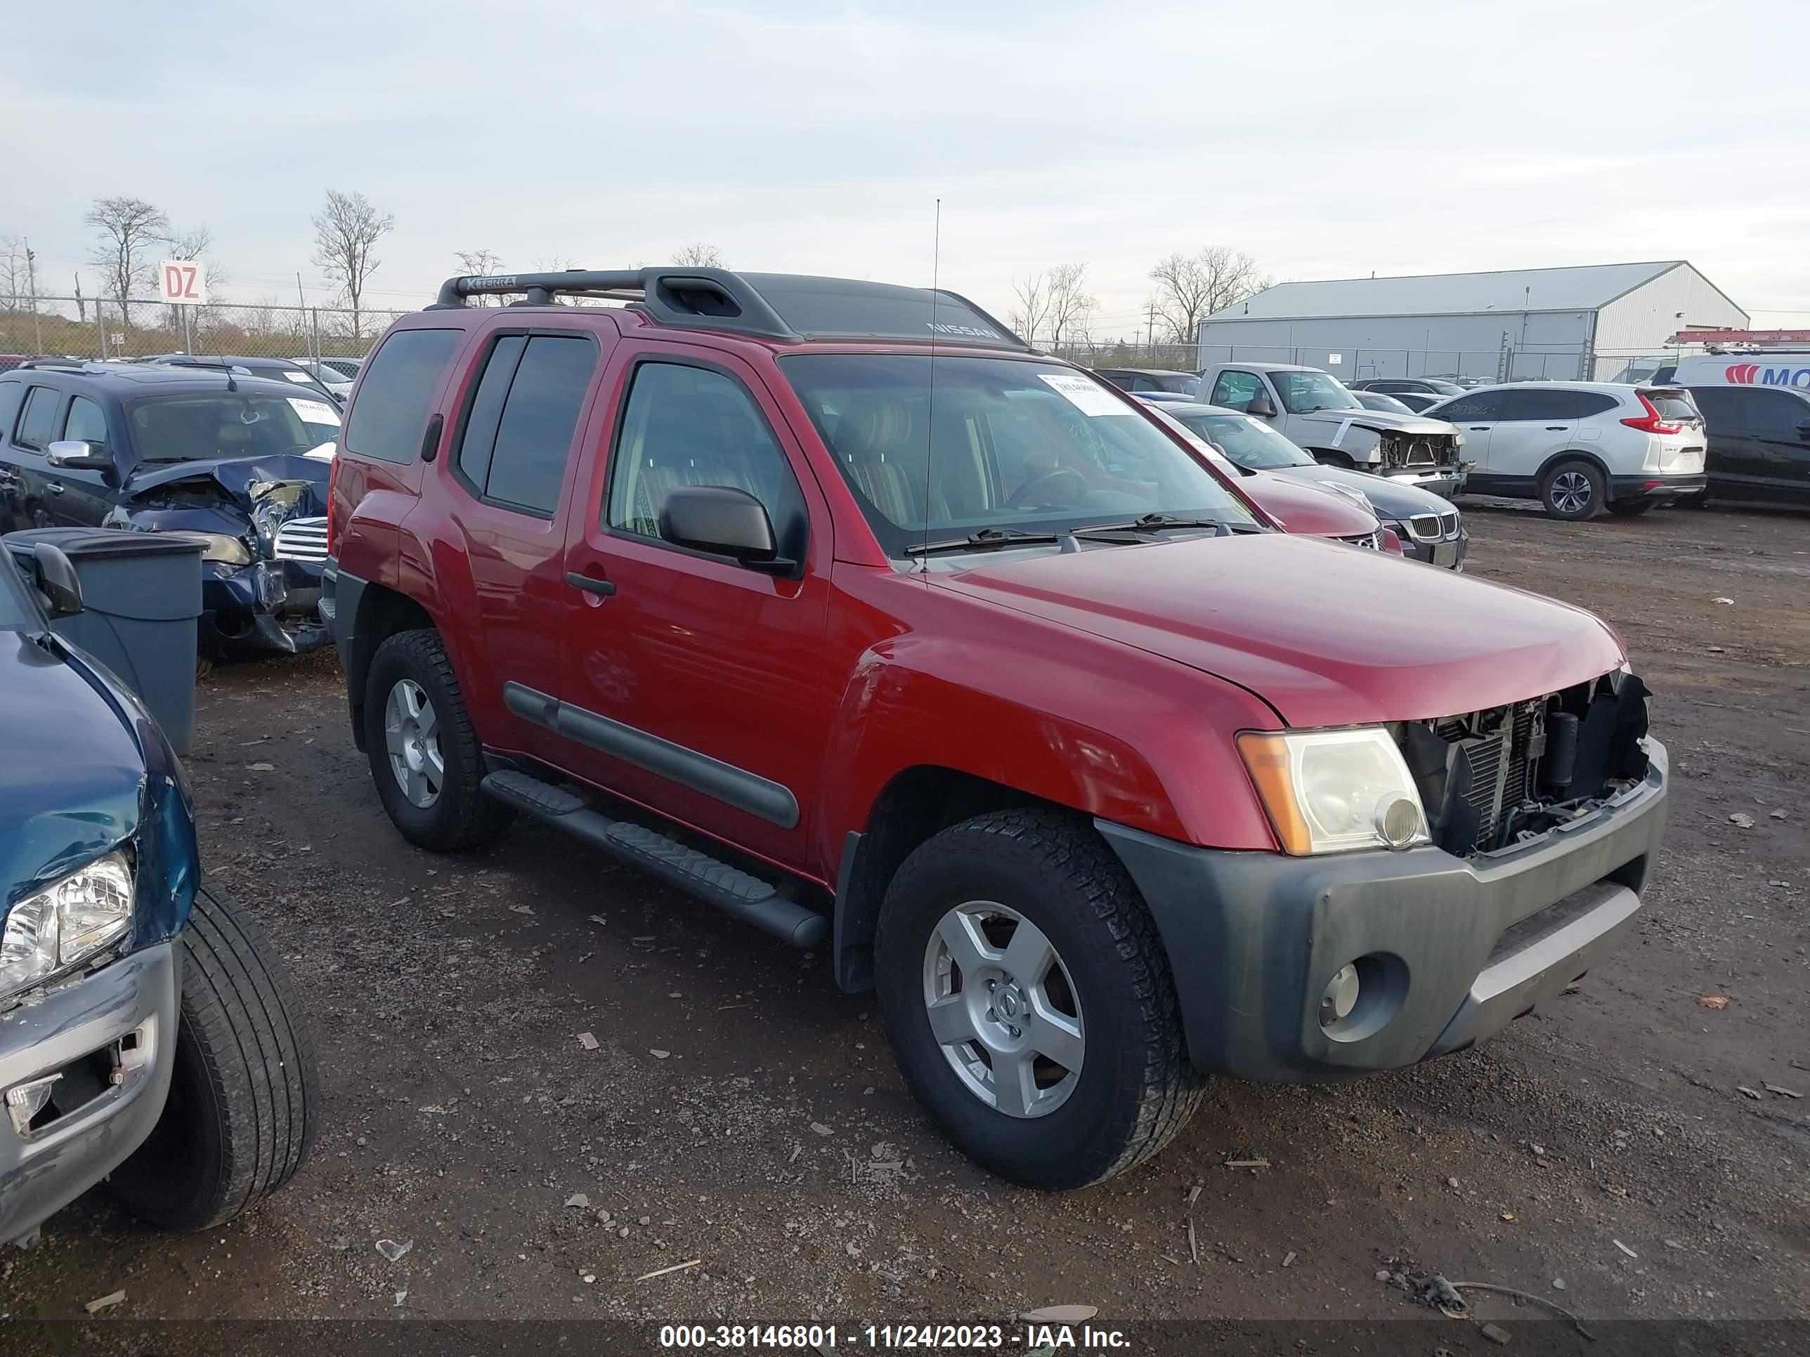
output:
<svg viewBox="0 0 1810 1357"><path fill-rule="evenodd" d="M0 631L0 905L138 829L145 758L83 675L24 631Z"/></svg>

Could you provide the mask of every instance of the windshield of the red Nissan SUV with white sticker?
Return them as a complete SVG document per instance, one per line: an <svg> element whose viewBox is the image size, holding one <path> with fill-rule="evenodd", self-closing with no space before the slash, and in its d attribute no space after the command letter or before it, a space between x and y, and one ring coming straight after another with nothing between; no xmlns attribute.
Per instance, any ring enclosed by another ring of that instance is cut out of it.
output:
<svg viewBox="0 0 1810 1357"><path fill-rule="evenodd" d="M1146 514L1254 523L1138 409L1059 364L929 355L780 358L889 555L981 532ZM929 454L929 456L927 456Z"/></svg>

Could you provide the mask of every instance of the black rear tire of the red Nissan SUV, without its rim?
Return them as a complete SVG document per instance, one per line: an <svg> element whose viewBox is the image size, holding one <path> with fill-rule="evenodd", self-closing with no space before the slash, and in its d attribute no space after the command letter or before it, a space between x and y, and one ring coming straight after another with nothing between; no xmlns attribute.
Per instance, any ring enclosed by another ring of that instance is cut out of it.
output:
<svg viewBox="0 0 1810 1357"><path fill-rule="evenodd" d="M422 686L440 722L445 778L438 800L429 807L414 805L404 796L389 769L384 704L391 686L402 678ZM402 838L416 847L434 852L476 849L496 840L516 818L510 807L483 794L483 745L438 631L398 631L376 648L364 686L364 747L384 811L402 830Z"/></svg>

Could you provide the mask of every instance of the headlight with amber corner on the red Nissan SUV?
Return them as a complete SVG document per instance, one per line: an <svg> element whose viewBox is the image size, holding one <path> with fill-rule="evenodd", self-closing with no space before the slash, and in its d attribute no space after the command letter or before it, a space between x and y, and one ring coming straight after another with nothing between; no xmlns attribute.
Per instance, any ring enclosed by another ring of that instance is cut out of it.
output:
<svg viewBox="0 0 1810 1357"><path fill-rule="evenodd" d="M1245 733L1238 753L1285 852L1426 843L1421 794L1385 729Z"/></svg>

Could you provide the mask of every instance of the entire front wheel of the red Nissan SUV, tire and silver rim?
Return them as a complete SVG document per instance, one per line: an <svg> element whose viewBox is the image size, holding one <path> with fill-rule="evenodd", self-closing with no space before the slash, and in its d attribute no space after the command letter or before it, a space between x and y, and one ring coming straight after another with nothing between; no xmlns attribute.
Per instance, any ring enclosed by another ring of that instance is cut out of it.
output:
<svg viewBox="0 0 1810 1357"><path fill-rule="evenodd" d="M1157 926L1072 816L999 811L919 845L887 888L874 959L907 1084L1001 1178L1111 1178L1200 1102Z"/></svg>

